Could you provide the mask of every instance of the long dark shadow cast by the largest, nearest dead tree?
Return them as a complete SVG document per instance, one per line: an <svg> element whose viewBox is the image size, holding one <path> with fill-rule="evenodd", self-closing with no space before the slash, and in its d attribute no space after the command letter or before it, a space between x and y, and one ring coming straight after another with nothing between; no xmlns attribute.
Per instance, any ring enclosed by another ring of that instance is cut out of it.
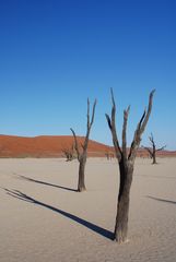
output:
<svg viewBox="0 0 176 262"><path fill-rule="evenodd" d="M4 189L3 190L7 192L7 194L15 198L15 199L19 199L19 200L22 200L22 201L26 201L28 203L32 203L32 204L35 204L35 205L39 205L39 206L43 206L43 207L46 207L48 210L51 210L54 212L57 212L58 214L67 217L67 218L70 218L74 222L77 222L78 224L81 224L85 227L87 227L89 229L99 234L101 236L105 237L105 238L108 238L110 240L114 240L114 234L103 227L99 227L91 222L87 222L83 218L80 218L75 215L72 215L66 211L62 211L62 210L59 210L59 209L56 209L55 206L51 206L51 205L48 205L48 204L45 204L40 201L37 201L35 200L34 198L27 195L27 194L24 194L23 192L19 191L19 190L9 190L9 189Z"/></svg>

